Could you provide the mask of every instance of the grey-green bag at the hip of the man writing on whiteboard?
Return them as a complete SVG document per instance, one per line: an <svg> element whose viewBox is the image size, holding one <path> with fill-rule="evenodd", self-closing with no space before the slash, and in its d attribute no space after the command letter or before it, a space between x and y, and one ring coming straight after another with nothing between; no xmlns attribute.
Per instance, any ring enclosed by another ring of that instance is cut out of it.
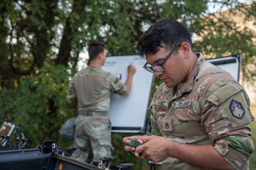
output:
<svg viewBox="0 0 256 170"><path fill-rule="evenodd" d="M75 120L76 117L69 118L60 128L60 135L69 140L74 139L74 132L75 132Z"/></svg>

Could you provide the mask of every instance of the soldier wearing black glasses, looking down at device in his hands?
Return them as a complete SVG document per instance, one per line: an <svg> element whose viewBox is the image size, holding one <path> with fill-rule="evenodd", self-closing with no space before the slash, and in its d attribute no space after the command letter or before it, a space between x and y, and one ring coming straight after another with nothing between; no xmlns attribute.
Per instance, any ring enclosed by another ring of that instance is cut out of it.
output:
<svg viewBox="0 0 256 170"><path fill-rule="evenodd" d="M177 21L153 24L137 50L146 57L144 68L163 84L150 105L151 133L125 137L124 143L142 143L125 150L162 162L161 169L249 169L254 118L244 88L194 53L189 31Z"/></svg>

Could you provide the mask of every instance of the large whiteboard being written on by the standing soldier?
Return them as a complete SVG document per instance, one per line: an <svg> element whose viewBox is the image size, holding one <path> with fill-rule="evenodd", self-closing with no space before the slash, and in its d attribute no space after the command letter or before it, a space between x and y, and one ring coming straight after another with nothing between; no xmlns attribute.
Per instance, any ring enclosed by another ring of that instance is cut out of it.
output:
<svg viewBox="0 0 256 170"><path fill-rule="evenodd" d="M102 69L126 82L127 67L132 64L136 68L133 75L132 87L128 96L111 93L110 110L108 117L111 121L111 132L116 133L143 133L147 118L151 88L154 74L146 71L143 66L145 59L138 55L108 56Z"/></svg>

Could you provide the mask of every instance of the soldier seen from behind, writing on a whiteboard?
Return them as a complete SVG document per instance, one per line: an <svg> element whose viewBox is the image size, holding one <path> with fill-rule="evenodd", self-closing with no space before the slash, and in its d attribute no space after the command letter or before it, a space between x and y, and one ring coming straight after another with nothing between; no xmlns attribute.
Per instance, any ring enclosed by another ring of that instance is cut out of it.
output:
<svg viewBox="0 0 256 170"><path fill-rule="evenodd" d="M132 77L136 69L130 65L123 84L114 74L101 69L107 50L103 44L94 43L88 50L90 64L77 72L70 81L67 99L78 103L75 122L74 146L78 147L71 158L86 162L89 149L93 160L99 162L103 156L111 156L111 123L107 117L111 91L121 96L129 94Z"/></svg>

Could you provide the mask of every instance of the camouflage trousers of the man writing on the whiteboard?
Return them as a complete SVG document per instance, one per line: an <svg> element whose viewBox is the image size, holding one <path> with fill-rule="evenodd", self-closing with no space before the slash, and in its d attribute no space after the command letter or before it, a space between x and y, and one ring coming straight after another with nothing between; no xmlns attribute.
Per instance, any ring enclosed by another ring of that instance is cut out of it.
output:
<svg viewBox="0 0 256 170"><path fill-rule="evenodd" d="M86 162L90 148L93 161L100 162L99 158L111 156L111 124L107 116L79 115L75 124L73 145L78 149L72 153L72 159Z"/></svg>

